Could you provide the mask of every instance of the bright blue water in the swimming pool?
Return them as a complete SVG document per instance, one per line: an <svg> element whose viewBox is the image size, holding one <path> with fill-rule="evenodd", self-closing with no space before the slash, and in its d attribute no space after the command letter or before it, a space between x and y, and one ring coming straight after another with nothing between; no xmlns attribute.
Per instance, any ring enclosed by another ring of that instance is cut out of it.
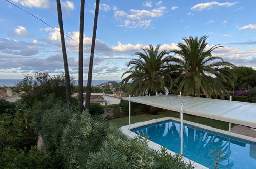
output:
<svg viewBox="0 0 256 169"><path fill-rule="evenodd" d="M168 120L131 130L149 136L149 140L167 149L180 152L180 122ZM221 168L256 168L256 143L184 124L183 156L213 168L212 150L224 155Z"/></svg>

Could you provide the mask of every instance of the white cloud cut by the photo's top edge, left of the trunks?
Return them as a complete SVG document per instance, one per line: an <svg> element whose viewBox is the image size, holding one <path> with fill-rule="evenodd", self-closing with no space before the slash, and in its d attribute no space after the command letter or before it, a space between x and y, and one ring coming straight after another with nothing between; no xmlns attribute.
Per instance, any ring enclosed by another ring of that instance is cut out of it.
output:
<svg viewBox="0 0 256 169"><path fill-rule="evenodd" d="M49 0L12 0L14 3L21 4L25 7L50 8Z"/></svg>

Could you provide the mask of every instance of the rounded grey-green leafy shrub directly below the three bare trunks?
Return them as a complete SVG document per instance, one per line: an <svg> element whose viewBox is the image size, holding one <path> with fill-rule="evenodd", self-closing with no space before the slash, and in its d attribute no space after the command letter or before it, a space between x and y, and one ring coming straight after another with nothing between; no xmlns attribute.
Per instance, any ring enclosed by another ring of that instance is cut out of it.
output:
<svg viewBox="0 0 256 169"><path fill-rule="evenodd" d="M107 130L103 116L91 116L85 111L74 114L62 135L60 152L64 168L85 168L87 156L99 150Z"/></svg>

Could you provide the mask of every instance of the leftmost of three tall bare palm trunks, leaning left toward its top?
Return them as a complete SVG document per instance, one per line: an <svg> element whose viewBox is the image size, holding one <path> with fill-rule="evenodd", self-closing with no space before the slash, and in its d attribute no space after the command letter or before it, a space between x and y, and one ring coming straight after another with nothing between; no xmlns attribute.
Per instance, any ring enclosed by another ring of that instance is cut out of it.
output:
<svg viewBox="0 0 256 169"><path fill-rule="evenodd" d="M60 0L56 0L56 1L57 1L58 25L60 26L62 55L63 55L65 81L66 81L66 100L67 100L67 103L69 103L71 105L72 104L71 86L70 86L70 77L69 77L69 71L68 71L68 59L67 59L67 52L66 52L65 39L64 39L63 23L62 23L62 7L61 7Z"/></svg>

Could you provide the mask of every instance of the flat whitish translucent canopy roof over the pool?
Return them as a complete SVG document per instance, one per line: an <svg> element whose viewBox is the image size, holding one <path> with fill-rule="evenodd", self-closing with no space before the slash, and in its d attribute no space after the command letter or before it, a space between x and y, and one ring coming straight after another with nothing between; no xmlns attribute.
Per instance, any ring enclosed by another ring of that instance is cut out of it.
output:
<svg viewBox="0 0 256 169"><path fill-rule="evenodd" d="M129 101L129 97L122 99ZM178 95L131 97L130 101L178 112L183 101L183 113L256 128L255 103Z"/></svg>

